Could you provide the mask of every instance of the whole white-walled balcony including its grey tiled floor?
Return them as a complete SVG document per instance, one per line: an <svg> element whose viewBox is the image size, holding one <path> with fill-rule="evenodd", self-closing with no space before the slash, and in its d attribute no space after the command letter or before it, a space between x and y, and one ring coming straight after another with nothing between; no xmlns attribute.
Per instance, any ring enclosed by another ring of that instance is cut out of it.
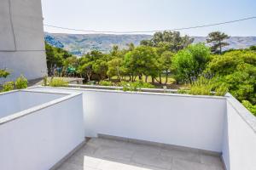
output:
<svg viewBox="0 0 256 170"><path fill-rule="evenodd" d="M255 117L230 94L45 87L16 93L32 105L0 114L4 170L256 167Z"/></svg>

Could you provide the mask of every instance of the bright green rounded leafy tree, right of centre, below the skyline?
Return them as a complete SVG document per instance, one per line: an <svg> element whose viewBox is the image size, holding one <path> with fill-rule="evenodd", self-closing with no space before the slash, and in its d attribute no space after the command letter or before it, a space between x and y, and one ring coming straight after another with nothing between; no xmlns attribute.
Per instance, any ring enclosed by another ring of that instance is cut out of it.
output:
<svg viewBox="0 0 256 170"><path fill-rule="evenodd" d="M177 81L192 82L206 68L209 59L210 49L203 43L180 50L172 59L172 69Z"/></svg>

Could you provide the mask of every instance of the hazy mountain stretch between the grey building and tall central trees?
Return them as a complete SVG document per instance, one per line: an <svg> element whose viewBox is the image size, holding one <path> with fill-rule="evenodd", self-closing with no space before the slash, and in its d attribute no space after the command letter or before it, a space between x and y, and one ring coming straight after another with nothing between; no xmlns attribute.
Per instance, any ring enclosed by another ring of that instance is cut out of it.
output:
<svg viewBox="0 0 256 170"><path fill-rule="evenodd" d="M44 33L46 42L55 46L55 44L64 45L64 48L72 54L82 55L91 50L100 50L103 53L108 53L113 45L118 45L119 48L127 47L126 44L133 42L135 45L143 39L149 39L149 35L113 35L113 34L60 34L60 33ZM49 37L55 39L55 42L49 41ZM58 47L58 46L55 46Z"/></svg>

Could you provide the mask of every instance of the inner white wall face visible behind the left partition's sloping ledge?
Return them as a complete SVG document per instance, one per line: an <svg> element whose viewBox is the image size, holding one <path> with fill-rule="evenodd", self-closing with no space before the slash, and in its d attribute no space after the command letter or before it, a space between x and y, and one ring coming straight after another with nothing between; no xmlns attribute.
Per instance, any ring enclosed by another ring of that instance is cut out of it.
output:
<svg viewBox="0 0 256 170"><path fill-rule="evenodd" d="M65 95L67 94L45 94L26 91L15 91L7 94L0 94L0 118L61 98Z"/></svg>

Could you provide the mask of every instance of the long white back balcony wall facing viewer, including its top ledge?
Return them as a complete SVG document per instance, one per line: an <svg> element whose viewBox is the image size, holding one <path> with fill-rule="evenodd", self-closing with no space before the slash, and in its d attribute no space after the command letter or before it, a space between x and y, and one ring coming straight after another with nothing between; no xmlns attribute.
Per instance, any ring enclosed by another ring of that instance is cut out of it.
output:
<svg viewBox="0 0 256 170"><path fill-rule="evenodd" d="M86 136L97 133L221 152L226 100L178 94L136 94L79 88Z"/></svg>

